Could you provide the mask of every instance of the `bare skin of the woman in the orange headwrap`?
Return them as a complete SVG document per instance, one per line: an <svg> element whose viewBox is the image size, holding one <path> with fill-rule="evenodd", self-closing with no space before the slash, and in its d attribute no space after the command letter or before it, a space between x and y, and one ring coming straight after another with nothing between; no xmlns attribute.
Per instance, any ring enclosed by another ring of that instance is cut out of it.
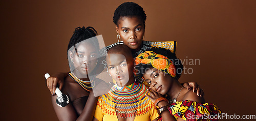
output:
<svg viewBox="0 0 256 121"><path fill-rule="evenodd" d="M197 96L192 90L187 90L182 88L183 86L179 81L169 74L164 73L156 68L147 69L146 73L143 74L144 79L148 84L150 84L150 90L148 93L151 96L146 95L152 102L155 102L158 98L163 97L167 94L171 99L176 98L177 101L191 100L199 103L205 103L203 97ZM180 94L179 94L180 92ZM179 94L179 95L178 95ZM166 101L160 101L157 106L163 107L169 105ZM163 120L176 120L173 115L169 113L168 110L164 110L161 113ZM177 120L183 120L178 118Z"/></svg>

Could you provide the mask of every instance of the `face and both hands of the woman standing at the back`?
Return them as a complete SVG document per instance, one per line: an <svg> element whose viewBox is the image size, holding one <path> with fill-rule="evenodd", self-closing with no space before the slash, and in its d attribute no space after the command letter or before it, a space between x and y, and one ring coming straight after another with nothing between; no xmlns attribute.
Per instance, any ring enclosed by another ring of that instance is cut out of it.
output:
<svg viewBox="0 0 256 121"><path fill-rule="evenodd" d="M142 39L145 33L145 24L139 17L120 17L116 32L120 35L124 45L131 48L132 52L137 52L141 48ZM55 95L57 84L59 89L62 89L63 80L68 76L68 73L57 73L47 79L47 86L52 95ZM188 90L193 89L198 96L204 96L204 92L197 82L185 82L183 84Z"/></svg>

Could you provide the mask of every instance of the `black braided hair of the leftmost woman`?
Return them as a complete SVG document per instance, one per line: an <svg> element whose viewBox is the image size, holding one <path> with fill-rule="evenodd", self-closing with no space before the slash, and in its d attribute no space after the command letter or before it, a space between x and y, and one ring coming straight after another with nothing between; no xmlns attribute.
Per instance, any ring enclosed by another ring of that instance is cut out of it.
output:
<svg viewBox="0 0 256 121"><path fill-rule="evenodd" d="M91 26L88 26L86 28L84 26L75 28L75 32L72 35L68 45L68 50L67 50L68 60L70 60L69 51L75 49L75 51L77 52L77 46L79 46L79 42L84 40L86 42L92 43L95 46L96 50L99 50L99 42L97 38L93 38L97 35L98 35L97 31ZM69 61L69 66L71 70L74 69L74 66L70 61Z"/></svg>

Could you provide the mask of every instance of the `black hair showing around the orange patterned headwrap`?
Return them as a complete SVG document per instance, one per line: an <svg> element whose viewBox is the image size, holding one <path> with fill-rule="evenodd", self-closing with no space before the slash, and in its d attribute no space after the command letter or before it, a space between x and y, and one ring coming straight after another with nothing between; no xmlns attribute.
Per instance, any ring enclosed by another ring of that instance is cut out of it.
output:
<svg viewBox="0 0 256 121"><path fill-rule="evenodd" d="M147 51L153 51L157 54L161 54L161 55L164 55L167 58L169 58L170 61L173 62L174 66L176 68L176 77L175 77L175 79L178 80L180 78L181 73L183 71L183 65L182 65L180 59L177 58L175 53L173 53L170 50L167 50L165 48L151 48L151 49L148 49ZM135 68L136 68L136 70L138 70L138 73L136 75L138 77L143 77L143 74L145 73L146 69L153 68L153 67L150 64L139 64Z"/></svg>

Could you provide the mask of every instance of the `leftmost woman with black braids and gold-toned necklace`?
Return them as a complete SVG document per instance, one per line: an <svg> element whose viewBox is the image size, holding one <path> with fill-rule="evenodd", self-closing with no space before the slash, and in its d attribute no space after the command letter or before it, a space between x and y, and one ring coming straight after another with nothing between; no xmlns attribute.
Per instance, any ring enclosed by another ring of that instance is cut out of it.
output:
<svg viewBox="0 0 256 121"><path fill-rule="evenodd" d="M93 27L77 27L68 45L68 59L71 72L65 78L62 93L70 102L65 107L56 104L57 96L52 97L53 108L59 120L92 120L97 97L92 87L102 80L88 76L93 73L99 56L99 43ZM90 78L89 78L90 77Z"/></svg>

